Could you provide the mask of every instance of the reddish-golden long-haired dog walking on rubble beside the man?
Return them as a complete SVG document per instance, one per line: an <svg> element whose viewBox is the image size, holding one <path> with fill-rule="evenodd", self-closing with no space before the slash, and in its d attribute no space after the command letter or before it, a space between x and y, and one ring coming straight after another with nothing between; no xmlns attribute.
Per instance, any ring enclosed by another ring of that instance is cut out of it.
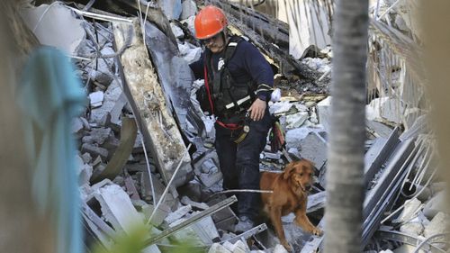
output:
<svg viewBox="0 0 450 253"><path fill-rule="evenodd" d="M264 211L274 225L280 242L292 251L284 236L282 216L295 213L295 223L314 235L321 235L320 229L312 225L306 216L308 192L311 190L314 165L308 159L293 161L287 165L283 173L261 173L261 190L273 191L272 194L261 194Z"/></svg>

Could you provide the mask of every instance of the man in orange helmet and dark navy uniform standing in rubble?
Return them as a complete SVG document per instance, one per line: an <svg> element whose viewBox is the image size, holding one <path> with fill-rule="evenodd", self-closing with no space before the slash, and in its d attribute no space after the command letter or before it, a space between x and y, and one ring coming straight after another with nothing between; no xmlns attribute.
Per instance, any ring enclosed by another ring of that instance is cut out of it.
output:
<svg viewBox="0 0 450 253"><path fill-rule="evenodd" d="M213 5L195 16L195 37L205 50L190 67L196 78L204 78L197 92L202 110L217 117L215 148L223 188L258 190L259 155L273 122L267 102L274 72L253 44L227 35L227 24L225 14ZM259 193L238 193L236 232L255 225L259 203Z"/></svg>

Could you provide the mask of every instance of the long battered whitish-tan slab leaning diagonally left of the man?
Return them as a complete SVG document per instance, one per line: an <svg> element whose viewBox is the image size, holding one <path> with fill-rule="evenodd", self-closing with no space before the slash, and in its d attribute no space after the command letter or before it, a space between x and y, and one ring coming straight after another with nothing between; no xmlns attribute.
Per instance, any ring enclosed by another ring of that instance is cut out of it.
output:
<svg viewBox="0 0 450 253"><path fill-rule="evenodd" d="M124 78L124 92L139 120L139 129L166 183L181 162L174 185L183 185L192 177L191 158L149 59L139 21L112 23L112 27L116 48L126 48L121 54L121 77Z"/></svg>

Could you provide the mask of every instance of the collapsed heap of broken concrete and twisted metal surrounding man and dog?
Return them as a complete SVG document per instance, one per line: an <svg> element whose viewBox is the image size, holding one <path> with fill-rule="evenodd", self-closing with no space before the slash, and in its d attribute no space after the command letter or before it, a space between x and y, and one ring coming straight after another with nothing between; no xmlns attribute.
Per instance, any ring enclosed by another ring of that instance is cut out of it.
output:
<svg viewBox="0 0 450 253"><path fill-rule="evenodd" d="M192 85L187 66L201 52L189 28L193 9L197 8L194 1L185 0L183 5L181 1L174 1L174 5L163 1L162 9L152 2L115 1L111 6L105 6L110 1L94 5L92 1L76 2L80 3L75 6L84 6L83 11L68 3L53 5L47 14L43 12L50 9L49 5L27 11L36 12L31 15L31 24L40 15L62 15L69 23L76 23L76 32L62 45L55 44L55 36L49 34L38 39L57 47L70 45L67 54L80 68L78 75L90 99L85 114L73 123L73 132L80 140L77 175L89 236L111 248L118 232L130 231L134 223L150 223L153 228L145 252L171 252L175 242L184 240L192 240L194 248L209 252L284 252L265 223L240 235L231 232L236 215L229 205L236 198L220 194L219 162L211 149L211 119L199 113L192 101L192 86L202 85ZM260 167L281 171L290 158L313 160L317 183L309 196L307 212L326 230L321 217L327 190L324 177L331 97L315 93L327 93L329 79L325 78L332 53L325 49L320 58L293 58L285 50L289 29L284 23L273 23L251 8L219 3L228 6L224 9L230 14L234 32L246 34L278 67L284 65L280 72L287 76L295 70L302 79L294 89L284 88L286 83L293 86L292 80L279 83L284 101L271 103L270 110L286 131L288 151L272 152L266 147ZM147 21L134 17L136 11L147 16ZM176 20L180 15L183 20ZM242 15L244 23L239 22ZM102 19L97 20L100 16ZM31 25L31 31L45 34L54 20L44 20ZM398 16L395 20L401 23ZM276 30L271 30L273 27ZM442 188L433 185L439 183L438 166L432 161L433 136L426 125L423 104L414 95L416 91L419 96L422 93L415 79L420 75L406 60L414 43L380 21L373 21L371 36L364 243L367 250L376 252L403 247L389 241L443 252L447 247L441 238L446 232L446 214L439 206ZM381 44L389 43L386 38L401 38L391 41L396 45L395 53L390 47L380 49ZM408 45L406 50L399 50L404 44ZM390 54L395 59L385 61ZM315 89L302 86L307 83ZM392 90L393 94L386 92ZM188 141L195 151L186 147ZM297 228L292 215L283 221L295 252L320 250L322 238ZM247 239L253 243L248 245Z"/></svg>

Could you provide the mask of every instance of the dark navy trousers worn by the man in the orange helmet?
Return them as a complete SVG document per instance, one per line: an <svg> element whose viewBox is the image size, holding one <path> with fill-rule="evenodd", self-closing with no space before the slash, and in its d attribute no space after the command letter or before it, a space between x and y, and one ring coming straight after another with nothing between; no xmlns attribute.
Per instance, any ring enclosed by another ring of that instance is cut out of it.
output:
<svg viewBox="0 0 450 253"><path fill-rule="evenodd" d="M266 146L267 132L272 122L273 117L266 110L262 120L250 122L250 131L239 144L233 141L232 134L236 135L236 132L215 124L215 146L225 190L259 190L259 154ZM259 193L239 193L238 215L245 215L253 220L258 214L260 199Z"/></svg>

